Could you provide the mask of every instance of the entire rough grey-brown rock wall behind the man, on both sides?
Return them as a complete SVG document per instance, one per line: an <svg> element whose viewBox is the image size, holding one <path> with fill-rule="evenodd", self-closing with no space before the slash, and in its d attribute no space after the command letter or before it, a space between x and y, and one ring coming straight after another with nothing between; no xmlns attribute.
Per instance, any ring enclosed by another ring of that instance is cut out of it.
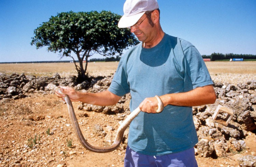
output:
<svg viewBox="0 0 256 167"><path fill-rule="evenodd" d="M0 100L19 99L28 93L53 93L56 86L70 86L79 91L101 92L107 90L113 76L97 77L76 83L75 76L61 78L25 76L24 74L0 74ZM247 132L256 131L256 80L238 85L215 83L217 100L213 105L193 107L193 119L199 142L195 153L201 157L221 157L230 152L240 152L246 148ZM106 114L128 113L130 95L123 96L114 106L95 106L81 103L79 110L103 112ZM228 126L213 122L212 115L218 105L233 110L234 116ZM124 116L120 120L124 119ZM100 127L96 128L98 131ZM104 136L104 134L101 134ZM250 158L250 157L249 157ZM244 163L245 160L243 160Z"/></svg>

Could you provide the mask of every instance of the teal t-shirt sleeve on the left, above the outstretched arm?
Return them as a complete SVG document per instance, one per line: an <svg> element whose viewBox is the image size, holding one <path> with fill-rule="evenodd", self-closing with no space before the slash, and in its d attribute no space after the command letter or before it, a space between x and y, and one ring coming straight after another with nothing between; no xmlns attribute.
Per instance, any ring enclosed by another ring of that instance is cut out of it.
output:
<svg viewBox="0 0 256 167"><path fill-rule="evenodd" d="M126 74L126 61L125 56L120 59L119 65L117 67L116 73L114 74L111 85L108 89L111 93L117 96L124 96L126 93L130 92L130 86L127 82Z"/></svg>

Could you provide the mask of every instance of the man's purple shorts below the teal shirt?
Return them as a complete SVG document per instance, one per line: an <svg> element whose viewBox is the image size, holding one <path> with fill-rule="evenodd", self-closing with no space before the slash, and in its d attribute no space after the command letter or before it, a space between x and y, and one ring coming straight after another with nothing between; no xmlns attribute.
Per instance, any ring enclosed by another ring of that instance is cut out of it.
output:
<svg viewBox="0 0 256 167"><path fill-rule="evenodd" d="M125 167L198 167L193 147L179 153L148 156L136 153L127 146L124 164Z"/></svg>

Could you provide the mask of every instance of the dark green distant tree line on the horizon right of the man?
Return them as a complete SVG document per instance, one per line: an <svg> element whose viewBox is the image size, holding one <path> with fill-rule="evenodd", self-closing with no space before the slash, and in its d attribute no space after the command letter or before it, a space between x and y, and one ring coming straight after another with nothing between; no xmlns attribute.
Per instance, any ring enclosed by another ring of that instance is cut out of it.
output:
<svg viewBox="0 0 256 167"><path fill-rule="evenodd" d="M221 54L221 53L213 53L211 55L202 55L203 59L211 59L211 61L216 60L229 60L233 58L243 58L244 60L250 59L256 60L256 55L253 54Z"/></svg>

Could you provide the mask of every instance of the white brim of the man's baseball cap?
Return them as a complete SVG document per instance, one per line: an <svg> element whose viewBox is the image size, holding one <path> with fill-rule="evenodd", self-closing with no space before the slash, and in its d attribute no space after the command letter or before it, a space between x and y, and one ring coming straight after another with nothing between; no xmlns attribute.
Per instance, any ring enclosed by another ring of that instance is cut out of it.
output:
<svg viewBox="0 0 256 167"><path fill-rule="evenodd" d="M118 27L127 28L127 27L133 26L134 24L137 23L138 20L140 20L140 17L142 17L144 13L145 11L138 14L134 14L132 16L123 15L119 20Z"/></svg>

